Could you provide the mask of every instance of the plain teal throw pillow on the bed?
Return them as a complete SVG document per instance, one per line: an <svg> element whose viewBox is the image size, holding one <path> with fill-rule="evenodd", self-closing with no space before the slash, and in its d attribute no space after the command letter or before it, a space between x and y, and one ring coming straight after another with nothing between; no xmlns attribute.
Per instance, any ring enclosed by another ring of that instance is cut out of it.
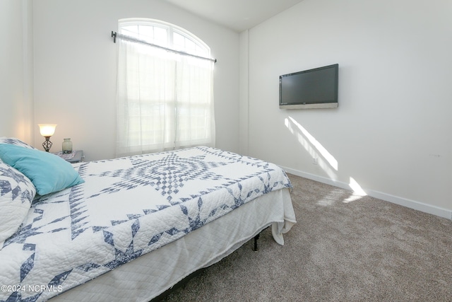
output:
<svg viewBox="0 0 452 302"><path fill-rule="evenodd" d="M40 195L58 192L85 182L71 163L52 153L0 144L0 158L27 176Z"/></svg>

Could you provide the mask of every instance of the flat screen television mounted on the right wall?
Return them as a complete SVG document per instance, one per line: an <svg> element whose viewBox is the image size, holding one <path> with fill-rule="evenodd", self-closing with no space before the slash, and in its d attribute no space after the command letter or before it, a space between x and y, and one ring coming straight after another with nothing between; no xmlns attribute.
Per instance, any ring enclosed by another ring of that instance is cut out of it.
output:
<svg viewBox="0 0 452 302"><path fill-rule="evenodd" d="M338 107L339 64L280 76L280 108Z"/></svg>

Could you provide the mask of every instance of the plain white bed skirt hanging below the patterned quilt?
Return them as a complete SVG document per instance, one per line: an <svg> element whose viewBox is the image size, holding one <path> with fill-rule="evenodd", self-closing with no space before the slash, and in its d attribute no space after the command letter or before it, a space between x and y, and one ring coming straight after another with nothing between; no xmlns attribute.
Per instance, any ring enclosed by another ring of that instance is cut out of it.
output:
<svg viewBox="0 0 452 302"><path fill-rule="evenodd" d="M150 301L230 255L267 226L272 225L273 238L283 245L283 233L295 222L289 189L273 191L52 301Z"/></svg>

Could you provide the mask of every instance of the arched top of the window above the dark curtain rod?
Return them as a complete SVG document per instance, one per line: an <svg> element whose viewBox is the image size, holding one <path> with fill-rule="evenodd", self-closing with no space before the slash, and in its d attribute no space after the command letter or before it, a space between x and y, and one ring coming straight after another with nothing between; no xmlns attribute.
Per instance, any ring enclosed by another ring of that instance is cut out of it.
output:
<svg viewBox="0 0 452 302"><path fill-rule="evenodd" d="M203 40L177 25L148 18L119 19L119 33L146 42L201 57L210 56Z"/></svg>

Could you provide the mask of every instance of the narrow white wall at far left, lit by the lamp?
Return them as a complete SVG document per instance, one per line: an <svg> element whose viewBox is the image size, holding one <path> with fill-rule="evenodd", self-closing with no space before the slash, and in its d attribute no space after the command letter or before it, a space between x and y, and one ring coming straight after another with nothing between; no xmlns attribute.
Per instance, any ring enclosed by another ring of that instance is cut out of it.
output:
<svg viewBox="0 0 452 302"><path fill-rule="evenodd" d="M31 0L0 1L0 137L32 144Z"/></svg>

